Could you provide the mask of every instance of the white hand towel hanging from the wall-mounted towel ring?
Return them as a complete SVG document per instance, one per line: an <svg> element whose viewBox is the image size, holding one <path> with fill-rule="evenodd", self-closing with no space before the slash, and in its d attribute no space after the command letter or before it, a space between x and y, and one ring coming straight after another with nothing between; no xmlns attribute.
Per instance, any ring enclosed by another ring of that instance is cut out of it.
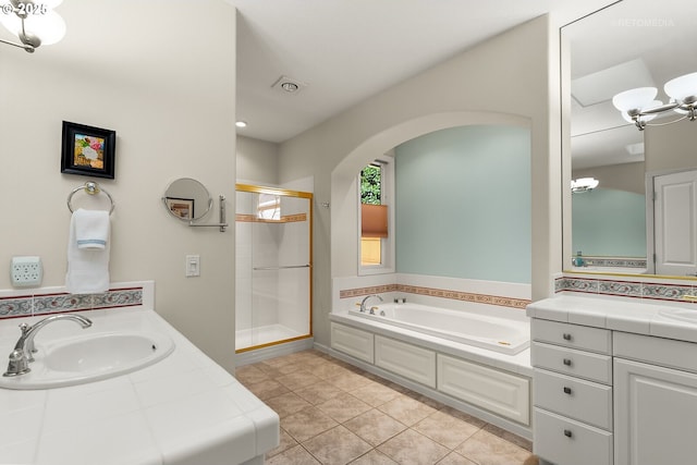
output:
<svg viewBox="0 0 697 465"><path fill-rule="evenodd" d="M99 221L96 221L95 217ZM88 221L83 224L85 219ZM87 223L90 223L89 227L86 225ZM91 223L98 223L99 228L95 228ZM95 294L109 290L110 229L108 211L90 211L81 208L75 210L71 217L68 240L68 273L65 274L65 287L71 294ZM91 232L95 230L100 232L98 236L93 235L96 234ZM81 248L77 240L78 231L90 231L87 233L88 235L83 237L93 235L89 238L103 241L103 247Z"/></svg>

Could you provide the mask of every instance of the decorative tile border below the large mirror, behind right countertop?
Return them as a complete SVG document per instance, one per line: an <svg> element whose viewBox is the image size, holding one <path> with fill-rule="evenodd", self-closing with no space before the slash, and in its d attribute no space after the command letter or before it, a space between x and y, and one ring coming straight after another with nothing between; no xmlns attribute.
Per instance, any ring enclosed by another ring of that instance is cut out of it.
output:
<svg viewBox="0 0 697 465"><path fill-rule="evenodd" d="M623 281L616 279L592 279L563 276L554 280L554 293L577 292L615 297L646 298L681 303L696 303L697 285Z"/></svg>

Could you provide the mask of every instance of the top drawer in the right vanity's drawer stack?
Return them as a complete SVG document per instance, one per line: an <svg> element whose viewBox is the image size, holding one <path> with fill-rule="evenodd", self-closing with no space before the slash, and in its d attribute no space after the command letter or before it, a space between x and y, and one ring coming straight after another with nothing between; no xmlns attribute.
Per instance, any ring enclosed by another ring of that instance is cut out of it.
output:
<svg viewBox="0 0 697 465"><path fill-rule="evenodd" d="M534 341L598 352L600 354L612 353L612 332L607 329L535 318L530 332Z"/></svg>

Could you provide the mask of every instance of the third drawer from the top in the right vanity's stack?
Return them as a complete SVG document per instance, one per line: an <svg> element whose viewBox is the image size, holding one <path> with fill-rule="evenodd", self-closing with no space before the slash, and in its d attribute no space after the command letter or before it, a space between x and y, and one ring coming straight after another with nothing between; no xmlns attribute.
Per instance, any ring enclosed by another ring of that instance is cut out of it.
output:
<svg viewBox="0 0 697 465"><path fill-rule="evenodd" d="M612 429L611 387L536 369L534 389L536 406Z"/></svg>

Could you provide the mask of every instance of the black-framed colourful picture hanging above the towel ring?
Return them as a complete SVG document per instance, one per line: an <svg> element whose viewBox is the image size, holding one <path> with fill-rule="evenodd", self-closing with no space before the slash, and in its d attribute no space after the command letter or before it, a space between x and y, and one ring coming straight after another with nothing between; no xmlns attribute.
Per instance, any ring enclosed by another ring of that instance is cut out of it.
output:
<svg viewBox="0 0 697 465"><path fill-rule="evenodd" d="M63 121L61 173L113 180L117 132Z"/></svg>

